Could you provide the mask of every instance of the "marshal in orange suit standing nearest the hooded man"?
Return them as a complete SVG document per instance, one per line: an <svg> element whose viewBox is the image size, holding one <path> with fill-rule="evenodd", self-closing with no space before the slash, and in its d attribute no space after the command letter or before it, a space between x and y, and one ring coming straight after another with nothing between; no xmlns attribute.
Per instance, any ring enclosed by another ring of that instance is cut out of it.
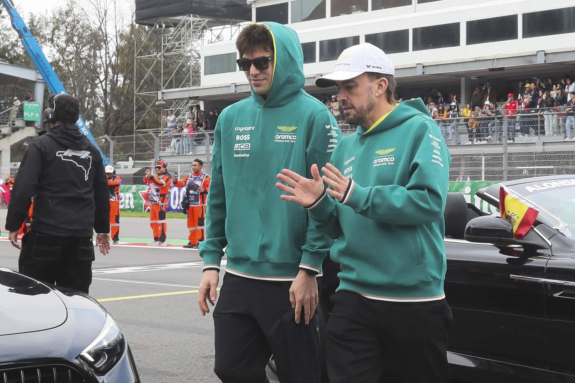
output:
<svg viewBox="0 0 575 383"><path fill-rule="evenodd" d="M202 172L204 163L196 158L191 163L191 173L178 181L174 177L175 187L186 187L186 198L189 206L187 208L187 229L190 235L187 237L188 243L184 245L186 249L197 249L198 243L204 241L206 226L206 199L210 187L210 176Z"/></svg>

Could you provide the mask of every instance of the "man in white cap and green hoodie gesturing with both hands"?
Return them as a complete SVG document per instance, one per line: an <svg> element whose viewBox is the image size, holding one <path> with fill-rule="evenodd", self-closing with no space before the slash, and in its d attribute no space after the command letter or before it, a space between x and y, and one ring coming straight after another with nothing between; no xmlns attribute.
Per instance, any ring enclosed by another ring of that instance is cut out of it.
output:
<svg viewBox="0 0 575 383"><path fill-rule="evenodd" d="M312 177L278 175L281 198L309 207L316 228L337 239L331 257L341 265L340 285L327 325L332 383L377 382L384 369L394 381L448 381L443 210L451 158L421 99L396 104L393 75L381 49L344 50L335 72L316 84L338 86L357 131L335 148L323 177L317 165Z"/></svg>

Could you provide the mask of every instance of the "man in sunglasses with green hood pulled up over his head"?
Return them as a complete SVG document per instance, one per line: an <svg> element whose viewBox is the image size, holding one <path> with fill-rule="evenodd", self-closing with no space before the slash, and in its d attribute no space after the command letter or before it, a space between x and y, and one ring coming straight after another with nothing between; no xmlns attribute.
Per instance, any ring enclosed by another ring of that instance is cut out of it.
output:
<svg viewBox="0 0 575 383"><path fill-rule="evenodd" d="M281 24L252 24L236 41L252 87L250 98L224 109L214 131L204 275L198 304L217 296L216 361L223 382L264 382L274 354L282 382L320 381L319 332L313 312L316 276L333 240L309 222L305 208L279 199L277 172L310 176L341 137L327 107L302 90L303 53L297 33Z"/></svg>

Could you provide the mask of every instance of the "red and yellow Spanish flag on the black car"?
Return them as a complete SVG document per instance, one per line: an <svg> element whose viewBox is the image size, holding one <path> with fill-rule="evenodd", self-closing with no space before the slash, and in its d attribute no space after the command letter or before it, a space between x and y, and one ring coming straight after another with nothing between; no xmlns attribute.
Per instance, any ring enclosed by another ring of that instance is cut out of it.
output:
<svg viewBox="0 0 575 383"><path fill-rule="evenodd" d="M530 200L502 184L499 189L499 210L501 218L513 226L515 238L522 239L539 214L537 207Z"/></svg>

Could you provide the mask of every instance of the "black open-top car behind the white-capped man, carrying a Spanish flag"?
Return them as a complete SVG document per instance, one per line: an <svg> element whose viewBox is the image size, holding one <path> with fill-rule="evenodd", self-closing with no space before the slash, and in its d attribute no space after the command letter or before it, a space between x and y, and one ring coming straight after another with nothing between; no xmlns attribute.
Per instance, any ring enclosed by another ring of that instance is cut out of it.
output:
<svg viewBox="0 0 575 383"><path fill-rule="evenodd" d="M445 293L453 311L448 361L453 382L575 382L575 176L503 183L539 207L536 222L515 239L499 216L449 193L444 212ZM500 185L476 196L499 208ZM573 231L571 231L573 230ZM324 261L319 309L339 265ZM273 358L269 363L274 370ZM324 381L327 381L324 366ZM382 381L388 380L384 373Z"/></svg>

